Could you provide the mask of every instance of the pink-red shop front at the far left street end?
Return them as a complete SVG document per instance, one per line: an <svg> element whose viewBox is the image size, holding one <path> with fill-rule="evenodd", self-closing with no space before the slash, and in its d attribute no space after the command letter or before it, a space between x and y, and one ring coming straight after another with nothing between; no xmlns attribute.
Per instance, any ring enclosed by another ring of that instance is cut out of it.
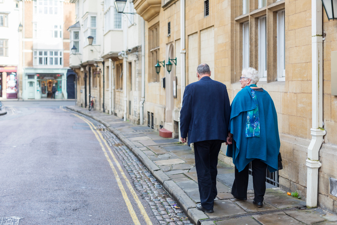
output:
<svg viewBox="0 0 337 225"><path fill-rule="evenodd" d="M0 67L0 97L18 98L18 75L16 66Z"/></svg>

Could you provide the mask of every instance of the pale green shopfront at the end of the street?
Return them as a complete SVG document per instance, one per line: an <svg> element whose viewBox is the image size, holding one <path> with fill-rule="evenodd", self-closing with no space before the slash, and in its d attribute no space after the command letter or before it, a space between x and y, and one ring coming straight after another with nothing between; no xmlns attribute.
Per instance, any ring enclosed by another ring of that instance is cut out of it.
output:
<svg viewBox="0 0 337 225"><path fill-rule="evenodd" d="M47 99L52 97L53 84L56 86L55 99L67 99L67 69L26 68L23 76L23 99Z"/></svg>

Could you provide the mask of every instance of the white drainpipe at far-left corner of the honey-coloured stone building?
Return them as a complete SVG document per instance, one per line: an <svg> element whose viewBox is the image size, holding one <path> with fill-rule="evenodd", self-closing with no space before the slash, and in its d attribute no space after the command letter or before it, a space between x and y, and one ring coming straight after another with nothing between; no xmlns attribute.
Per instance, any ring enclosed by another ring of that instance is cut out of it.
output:
<svg viewBox="0 0 337 225"><path fill-rule="evenodd" d="M139 103L140 124L144 123L144 101L145 101L145 20L142 18L142 97Z"/></svg>

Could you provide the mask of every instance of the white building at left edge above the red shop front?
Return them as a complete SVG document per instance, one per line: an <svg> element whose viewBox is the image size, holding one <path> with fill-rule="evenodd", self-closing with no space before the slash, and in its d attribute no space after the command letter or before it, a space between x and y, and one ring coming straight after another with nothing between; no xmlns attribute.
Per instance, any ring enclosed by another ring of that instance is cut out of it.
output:
<svg viewBox="0 0 337 225"><path fill-rule="evenodd" d="M18 97L19 2L0 0L0 97Z"/></svg>

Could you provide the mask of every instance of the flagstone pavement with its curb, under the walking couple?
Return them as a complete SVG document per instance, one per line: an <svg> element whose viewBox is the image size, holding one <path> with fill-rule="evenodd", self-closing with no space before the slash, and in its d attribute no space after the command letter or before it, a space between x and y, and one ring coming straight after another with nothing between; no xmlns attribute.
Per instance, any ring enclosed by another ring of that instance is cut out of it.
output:
<svg viewBox="0 0 337 225"><path fill-rule="evenodd" d="M178 139L162 138L159 132L145 125L79 106L68 109L87 115L104 124L146 166L164 189L179 203L195 225L337 225L337 215L321 208L307 209L306 202L287 195L286 190L268 188L261 208L252 204L254 191L248 191L247 201L231 194L231 185L217 182L218 195L214 213L196 209L200 202L194 154ZM218 162L218 174L233 174L234 168Z"/></svg>

